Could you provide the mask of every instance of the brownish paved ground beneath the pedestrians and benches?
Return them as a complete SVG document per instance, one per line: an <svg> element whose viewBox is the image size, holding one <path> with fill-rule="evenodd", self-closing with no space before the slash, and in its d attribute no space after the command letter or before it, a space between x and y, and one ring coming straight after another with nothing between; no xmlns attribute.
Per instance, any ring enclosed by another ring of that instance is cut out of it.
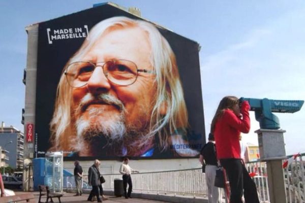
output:
<svg viewBox="0 0 305 203"><path fill-rule="evenodd" d="M23 194L28 192L15 192L16 194ZM37 199L37 202L39 200L39 192L31 192L34 194L34 196ZM80 203L80 202L91 202L87 201L88 194L82 194L81 196L73 196L74 193L64 193L64 196L60 198L62 202L69 202L69 203ZM116 196L108 196L109 199L104 200L105 203L118 203L118 202L126 202L126 203L168 203L166 201L156 201L156 200L148 200L148 199L140 199L140 198L129 198L126 199L125 197L116 197ZM42 202L46 202L46 198L41 198ZM58 198L53 198L54 202L59 202ZM95 201L97 202L97 201Z"/></svg>

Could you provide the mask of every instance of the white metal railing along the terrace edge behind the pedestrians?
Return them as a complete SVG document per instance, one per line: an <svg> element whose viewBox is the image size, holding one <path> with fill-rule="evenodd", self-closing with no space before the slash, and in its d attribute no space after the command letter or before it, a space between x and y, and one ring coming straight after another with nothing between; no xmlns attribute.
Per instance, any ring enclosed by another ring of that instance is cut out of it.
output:
<svg viewBox="0 0 305 203"><path fill-rule="evenodd" d="M284 169L288 203L305 202L304 156L305 153L300 154L289 167ZM270 202L266 162L254 161L247 163L246 167L254 176L260 202ZM110 191L114 190L114 180L122 178L120 174L103 176L106 180L103 188ZM87 180L88 177L83 176L82 187L89 189L91 187L87 184ZM207 196L205 174L201 173L201 168L133 174L132 180L133 190L140 193ZM74 176L64 177L64 188L75 188Z"/></svg>

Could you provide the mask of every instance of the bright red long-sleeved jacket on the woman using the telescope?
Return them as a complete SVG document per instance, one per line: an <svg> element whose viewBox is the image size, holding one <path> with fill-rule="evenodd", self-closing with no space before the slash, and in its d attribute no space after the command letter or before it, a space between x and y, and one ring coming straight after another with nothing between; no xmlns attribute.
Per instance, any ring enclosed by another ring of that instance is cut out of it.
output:
<svg viewBox="0 0 305 203"><path fill-rule="evenodd" d="M249 109L248 102L242 104L240 113L243 119L230 109L224 110L224 114L217 119L214 130L217 159L240 158L239 135L250 130Z"/></svg>

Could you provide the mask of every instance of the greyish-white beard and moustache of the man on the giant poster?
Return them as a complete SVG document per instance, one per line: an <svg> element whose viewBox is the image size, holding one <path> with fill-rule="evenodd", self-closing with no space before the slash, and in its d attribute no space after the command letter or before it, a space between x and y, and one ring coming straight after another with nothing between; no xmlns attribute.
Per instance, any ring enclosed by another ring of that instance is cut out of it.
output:
<svg viewBox="0 0 305 203"><path fill-rule="evenodd" d="M105 119L103 116L104 109L90 107L90 109L83 110L83 107L92 100L114 105L119 112ZM83 115L84 111L87 111L86 116ZM145 111L143 110L142 112ZM111 146L118 150L128 148L128 151L137 151L139 147L148 146L148 143L151 143L153 139L151 134L148 133L148 125L146 125L145 129L141 124L138 126L127 125L126 114L123 103L114 96L100 94L94 97L92 94L87 93L75 110L76 138L74 142L71 142L74 143L71 147L78 152L90 151L92 150L92 144L97 144L97 140L102 140L100 141L100 146L98 145L97 151L102 151L103 148ZM142 120L142 118L139 117L139 120Z"/></svg>

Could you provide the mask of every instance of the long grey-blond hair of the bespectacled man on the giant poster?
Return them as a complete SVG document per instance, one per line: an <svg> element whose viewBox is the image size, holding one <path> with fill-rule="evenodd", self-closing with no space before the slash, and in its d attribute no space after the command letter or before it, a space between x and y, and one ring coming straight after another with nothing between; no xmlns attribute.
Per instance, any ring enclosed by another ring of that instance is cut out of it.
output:
<svg viewBox="0 0 305 203"><path fill-rule="evenodd" d="M157 135L158 146L161 150L164 150L172 144L171 135L176 129L180 131L182 129L185 134L187 133L188 112L175 55L167 40L153 24L127 17L112 17L103 20L90 30L86 40L66 66L72 62L79 61L87 54L103 33L130 27L139 27L145 31L151 45L150 61L156 73L157 95L147 136L153 137ZM57 87L55 110L50 123L50 141L54 149L73 150L73 139L71 137L75 134L73 131L75 126L71 126L71 123L73 123L71 116L72 88L67 83L64 75L66 66ZM166 114L161 113L164 107L166 107ZM186 141L181 136L179 142L185 143Z"/></svg>

